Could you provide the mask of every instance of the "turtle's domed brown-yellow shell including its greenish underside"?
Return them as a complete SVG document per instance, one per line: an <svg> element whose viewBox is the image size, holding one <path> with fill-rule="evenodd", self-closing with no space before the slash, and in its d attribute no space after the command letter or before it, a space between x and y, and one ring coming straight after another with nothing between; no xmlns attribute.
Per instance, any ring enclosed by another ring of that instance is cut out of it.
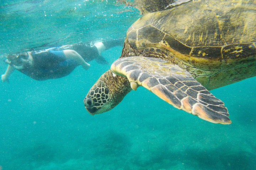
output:
<svg viewBox="0 0 256 170"><path fill-rule="evenodd" d="M164 50L166 60L208 89L225 86L256 75L256 0L193 0L146 13L128 29L127 41L139 54ZM230 78L213 82L223 76Z"/></svg>

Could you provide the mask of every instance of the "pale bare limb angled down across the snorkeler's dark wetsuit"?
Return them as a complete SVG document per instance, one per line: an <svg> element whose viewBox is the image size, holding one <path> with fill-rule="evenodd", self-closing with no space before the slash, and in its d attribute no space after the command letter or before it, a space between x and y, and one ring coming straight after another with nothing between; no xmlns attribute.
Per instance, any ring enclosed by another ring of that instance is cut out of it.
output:
<svg viewBox="0 0 256 170"><path fill-rule="evenodd" d="M64 53L66 59L73 59L73 60L75 60L85 70L87 70L90 67L90 64L85 62L85 60L82 58L82 56L79 55L76 51L74 51L74 50L63 50L63 53Z"/></svg>

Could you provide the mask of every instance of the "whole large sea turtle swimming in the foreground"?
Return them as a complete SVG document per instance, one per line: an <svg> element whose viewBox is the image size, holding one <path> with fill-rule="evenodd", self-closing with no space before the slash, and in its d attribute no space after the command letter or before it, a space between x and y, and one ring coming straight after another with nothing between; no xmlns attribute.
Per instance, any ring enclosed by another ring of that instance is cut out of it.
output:
<svg viewBox="0 0 256 170"><path fill-rule="evenodd" d="M201 119L231 123L209 90L256 75L256 0L183 2L144 11L132 24L121 57L84 99L90 114L111 110L143 86Z"/></svg>

